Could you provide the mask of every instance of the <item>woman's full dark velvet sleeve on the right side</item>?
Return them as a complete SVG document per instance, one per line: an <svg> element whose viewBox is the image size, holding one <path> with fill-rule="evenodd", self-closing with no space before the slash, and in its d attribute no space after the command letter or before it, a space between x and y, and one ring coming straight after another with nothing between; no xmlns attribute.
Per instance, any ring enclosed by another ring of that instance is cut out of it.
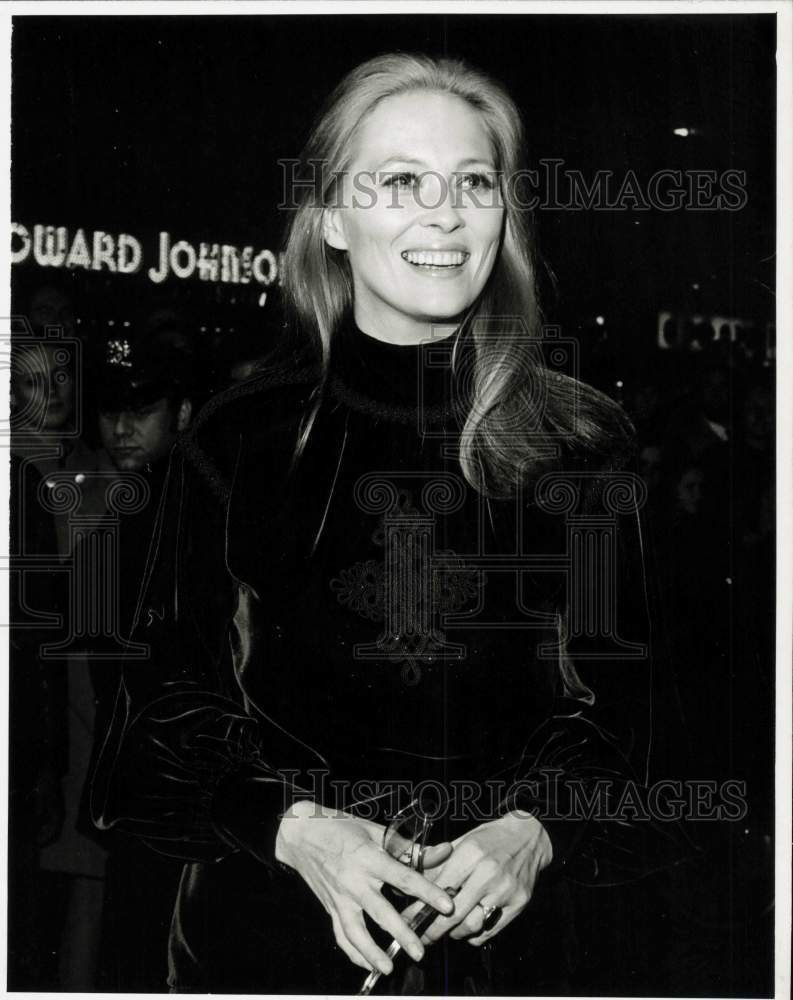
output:
<svg viewBox="0 0 793 1000"><path fill-rule="evenodd" d="M552 474L537 484L562 517L557 694L530 734L512 807L533 812L552 870L618 884L669 865L691 845L652 788L653 726L666 703L653 669L655 580L633 473Z"/></svg>

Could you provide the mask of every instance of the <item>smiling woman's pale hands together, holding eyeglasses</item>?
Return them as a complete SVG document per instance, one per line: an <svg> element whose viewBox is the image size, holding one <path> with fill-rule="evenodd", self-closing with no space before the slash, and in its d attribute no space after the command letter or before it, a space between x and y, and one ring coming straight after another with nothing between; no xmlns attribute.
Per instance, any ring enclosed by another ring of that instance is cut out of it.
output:
<svg viewBox="0 0 793 1000"><path fill-rule="evenodd" d="M552 858L545 829L528 813L508 813L452 843L427 848L424 874L392 858L382 846L383 833L378 823L300 801L279 825L276 859L294 869L322 903L350 961L384 975L393 965L370 935L364 913L415 961L423 958L425 944L445 934L479 945L525 909ZM381 892L385 885L413 902L399 913ZM448 889L455 890L454 899ZM409 921L427 903L438 917L420 940ZM494 911L498 920L484 929L486 914Z"/></svg>

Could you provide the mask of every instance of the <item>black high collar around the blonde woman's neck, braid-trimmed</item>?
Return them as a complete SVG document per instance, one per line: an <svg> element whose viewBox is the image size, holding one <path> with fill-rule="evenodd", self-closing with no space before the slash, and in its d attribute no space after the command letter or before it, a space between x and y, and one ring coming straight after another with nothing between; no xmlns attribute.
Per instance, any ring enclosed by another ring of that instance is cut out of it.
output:
<svg viewBox="0 0 793 1000"><path fill-rule="evenodd" d="M331 345L329 389L351 409L402 423L446 423L457 398L452 351L457 334L391 344L346 324Z"/></svg>

